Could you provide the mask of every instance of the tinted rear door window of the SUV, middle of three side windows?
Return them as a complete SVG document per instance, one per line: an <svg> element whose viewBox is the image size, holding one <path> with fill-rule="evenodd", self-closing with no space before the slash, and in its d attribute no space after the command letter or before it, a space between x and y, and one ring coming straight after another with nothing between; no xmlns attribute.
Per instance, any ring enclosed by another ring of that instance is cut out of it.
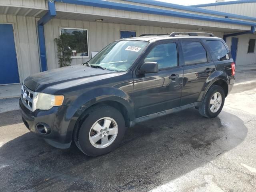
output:
<svg viewBox="0 0 256 192"><path fill-rule="evenodd" d="M182 42L185 65L199 64L207 62L206 50L198 41Z"/></svg>

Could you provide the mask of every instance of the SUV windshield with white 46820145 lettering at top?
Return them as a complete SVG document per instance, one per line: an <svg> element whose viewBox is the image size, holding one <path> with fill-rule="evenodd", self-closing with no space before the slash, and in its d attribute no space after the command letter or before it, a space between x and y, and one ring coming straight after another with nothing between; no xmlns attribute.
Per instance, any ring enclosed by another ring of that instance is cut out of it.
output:
<svg viewBox="0 0 256 192"><path fill-rule="evenodd" d="M115 41L106 46L88 64L107 70L126 71L147 46L145 41Z"/></svg>

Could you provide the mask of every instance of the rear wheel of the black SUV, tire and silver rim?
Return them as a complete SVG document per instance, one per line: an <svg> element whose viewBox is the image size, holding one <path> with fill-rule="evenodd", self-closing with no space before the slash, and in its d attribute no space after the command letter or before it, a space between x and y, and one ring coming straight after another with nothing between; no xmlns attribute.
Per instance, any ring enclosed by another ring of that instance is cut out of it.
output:
<svg viewBox="0 0 256 192"><path fill-rule="evenodd" d="M218 98L217 100L215 99L216 96ZM221 101L221 104L219 104L220 101ZM218 85L212 85L207 91L204 97L204 100L202 101L202 104L199 107L199 113L206 118L216 117L218 116L218 114L220 114L223 108L224 102L225 102L225 93L223 88Z"/></svg>

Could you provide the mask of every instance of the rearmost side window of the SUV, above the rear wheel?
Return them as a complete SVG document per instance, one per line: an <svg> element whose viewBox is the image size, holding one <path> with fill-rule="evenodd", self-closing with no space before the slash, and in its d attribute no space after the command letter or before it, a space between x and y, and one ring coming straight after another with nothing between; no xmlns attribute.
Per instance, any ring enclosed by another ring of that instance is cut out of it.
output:
<svg viewBox="0 0 256 192"><path fill-rule="evenodd" d="M206 44L210 47L214 53L214 61L229 60L228 50L221 41L206 41Z"/></svg>

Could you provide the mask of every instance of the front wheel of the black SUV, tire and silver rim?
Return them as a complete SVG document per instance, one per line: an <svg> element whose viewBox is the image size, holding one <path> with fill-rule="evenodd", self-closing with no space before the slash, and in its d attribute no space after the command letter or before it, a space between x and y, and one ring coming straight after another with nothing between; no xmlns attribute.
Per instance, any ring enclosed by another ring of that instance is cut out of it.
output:
<svg viewBox="0 0 256 192"><path fill-rule="evenodd" d="M95 157L115 150L125 130L124 117L116 108L108 105L94 106L88 109L82 123L74 130L74 142L84 154Z"/></svg>

